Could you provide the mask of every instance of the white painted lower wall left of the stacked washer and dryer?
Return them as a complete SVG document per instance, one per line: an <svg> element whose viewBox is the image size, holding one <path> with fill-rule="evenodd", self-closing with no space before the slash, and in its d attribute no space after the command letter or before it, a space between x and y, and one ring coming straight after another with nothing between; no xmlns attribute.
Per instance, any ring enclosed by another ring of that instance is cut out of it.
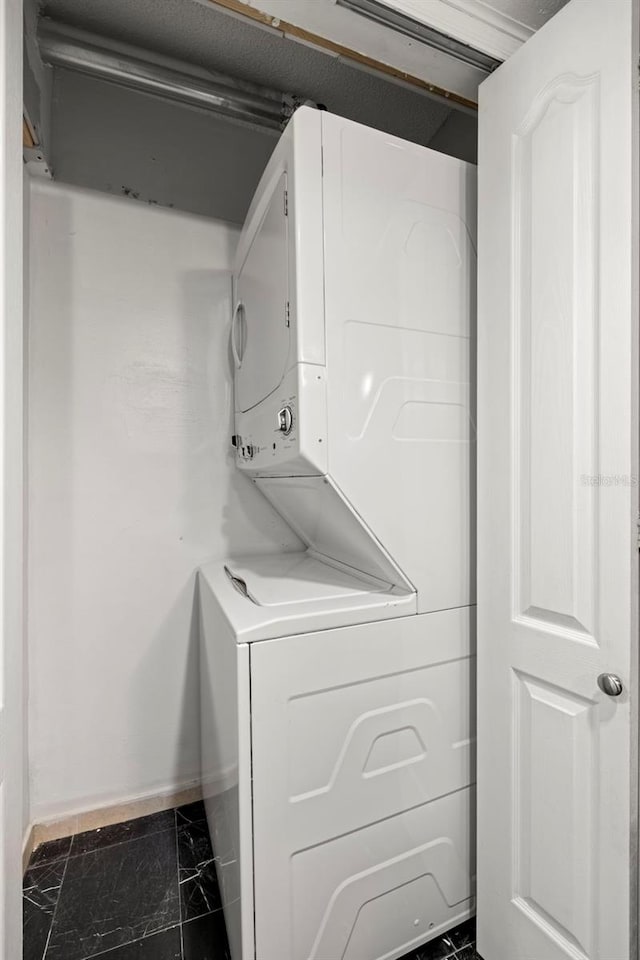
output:
<svg viewBox="0 0 640 960"><path fill-rule="evenodd" d="M233 470L235 228L33 183L32 818L198 776L194 571L299 542Z"/></svg>

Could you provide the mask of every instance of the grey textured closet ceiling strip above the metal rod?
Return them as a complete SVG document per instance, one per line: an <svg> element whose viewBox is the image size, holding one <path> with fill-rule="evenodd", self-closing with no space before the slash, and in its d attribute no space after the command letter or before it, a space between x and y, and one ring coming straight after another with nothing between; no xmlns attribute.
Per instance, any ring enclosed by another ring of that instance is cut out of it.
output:
<svg viewBox="0 0 640 960"><path fill-rule="evenodd" d="M46 0L43 14L197 67L321 103L427 145L446 103L196 0Z"/></svg>

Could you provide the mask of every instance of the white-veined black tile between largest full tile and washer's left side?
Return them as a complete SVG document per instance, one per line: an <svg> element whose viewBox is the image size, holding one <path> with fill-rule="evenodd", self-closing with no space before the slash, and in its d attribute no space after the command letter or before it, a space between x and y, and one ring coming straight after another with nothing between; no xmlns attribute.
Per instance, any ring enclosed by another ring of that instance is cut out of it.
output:
<svg viewBox="0 0 640 960"><path fill-rule="evenodd" d="M183 921L220 910L222 899L206 821L178 827L178 867Z"/></svg>

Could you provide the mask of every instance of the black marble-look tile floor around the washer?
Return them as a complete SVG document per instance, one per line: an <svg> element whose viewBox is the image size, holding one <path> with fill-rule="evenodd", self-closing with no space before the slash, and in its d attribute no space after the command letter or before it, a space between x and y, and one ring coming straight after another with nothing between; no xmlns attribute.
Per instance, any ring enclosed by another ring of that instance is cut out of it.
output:
<svg viewBox="0 0 640 960"><path fill-rule="evenodd" d="M468 921L403 960L475 960ZM24 878L24 960L230 960L201 803L53 840Z"/></svg>

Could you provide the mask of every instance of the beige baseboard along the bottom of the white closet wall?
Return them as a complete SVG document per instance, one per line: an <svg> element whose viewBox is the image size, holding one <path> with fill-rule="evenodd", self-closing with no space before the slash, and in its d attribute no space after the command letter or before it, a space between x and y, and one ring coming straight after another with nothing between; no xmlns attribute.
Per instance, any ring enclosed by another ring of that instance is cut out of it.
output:
<svg viewBox="0 0 640 960"><path fill-rule="evenodd" d="M25 834L22 854L23 867L26 868L32 852L41 843L46 843L48 840L60 840L61 837L84 833L85 830L97 830L99 827L108 827L113 823L135 820L137 817L159 813L161 810L171 810L173 807L179 807L184 803L193 803L201 799L200 781L192 780L189 783L171 787L162 793L151 796L135 797L121 803L109 804L106 807L80 810L63 817L33 823Z"/></svg>

